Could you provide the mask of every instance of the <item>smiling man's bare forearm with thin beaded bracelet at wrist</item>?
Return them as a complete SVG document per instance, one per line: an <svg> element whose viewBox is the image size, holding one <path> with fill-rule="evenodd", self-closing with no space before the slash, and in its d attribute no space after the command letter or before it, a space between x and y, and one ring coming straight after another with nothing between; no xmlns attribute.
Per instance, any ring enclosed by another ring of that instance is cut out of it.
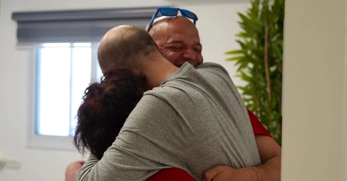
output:
<svg viewBox="0 0 347 181"><path fill-rule="evenodd" d="M259 173L259 181L281 180L281 156L275 156L266 163L255 166ZM239 171L245 175L244 181L257 181L258 175L252 167L242 168Z"/></svg>

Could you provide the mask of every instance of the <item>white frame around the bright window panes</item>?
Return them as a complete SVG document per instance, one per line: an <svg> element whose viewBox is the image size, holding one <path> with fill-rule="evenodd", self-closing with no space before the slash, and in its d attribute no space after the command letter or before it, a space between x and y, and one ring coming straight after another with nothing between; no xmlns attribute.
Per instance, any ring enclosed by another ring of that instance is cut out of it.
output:
<svg viewBox="0 0 347 181"><path fill-rule="evenodd" d="M66 42L68 43L68 42ZM91 69L93 70L91 72L91 82L95 82L95 77L97 75L97 69L96 66L98 66L97 61L97 48L98 43L91 42L92 43L92 66ZM72 43L71 43L72 44ZM29 97L30 100L28 108L29 108L29 120L28 123L28 129L27 129L27 141L26 141L26 147L28 148L45 148L45 149L54 149L54 150L68 150L68 151L77 151L75 146L73 145L73 136L48 136L48 135L38 135L35 133L36 129L36 102L37 102L37 65L38 65L38 51L39 48L42 46L37 46L32 48L30 51L30 88L29 88Z"/></svg>

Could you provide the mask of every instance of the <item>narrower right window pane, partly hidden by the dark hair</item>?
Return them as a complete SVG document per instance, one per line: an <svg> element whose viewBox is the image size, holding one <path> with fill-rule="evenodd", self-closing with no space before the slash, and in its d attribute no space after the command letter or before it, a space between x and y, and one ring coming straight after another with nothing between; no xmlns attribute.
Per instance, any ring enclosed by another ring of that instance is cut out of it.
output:
<svg viewBox="0 0 347 181"><path fill-rule="evenodd" d="M82 43L81 43L82 44ZM75 44L74 44L75 45ZM90 45L89 45L90 46ZM76 127L76 115L82 103L82 96L91 81L92 48L74 47L72 54L72 90L71 90L71 125L70 135L73 135Z"/></svg>

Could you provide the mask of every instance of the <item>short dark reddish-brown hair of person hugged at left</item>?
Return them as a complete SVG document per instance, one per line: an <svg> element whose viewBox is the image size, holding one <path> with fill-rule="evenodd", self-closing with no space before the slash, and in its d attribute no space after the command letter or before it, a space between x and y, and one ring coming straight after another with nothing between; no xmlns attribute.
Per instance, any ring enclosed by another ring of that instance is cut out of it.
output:
<svg viewBox="0 0 347 181"><path fill-rule="evenodd" d="M91 83L77 111L74 145L101 159L115 141L125 120L147 88L145 75L134 75L127 69L116 69Z"/></svg>

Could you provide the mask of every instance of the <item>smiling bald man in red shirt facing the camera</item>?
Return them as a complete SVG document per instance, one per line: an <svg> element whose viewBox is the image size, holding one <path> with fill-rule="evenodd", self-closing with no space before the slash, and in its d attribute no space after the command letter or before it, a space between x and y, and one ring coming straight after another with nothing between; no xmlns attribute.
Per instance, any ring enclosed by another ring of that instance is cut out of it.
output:
<svg viewBox="0 0 347 181"><path fill-rule="evenodd" d="M189 19L181 16L156 18L149 33L163 56L174 65L180 67L185 62L189 62L193 66L197 66L203 63L202 45L198 30ZM263 127L253 113L248 111L248 114L251 118L262 162L261 165L256 166L258 174L262 180L279 181L281 175L281 147L272 139L268 130ZM253 168L238 171L219 166L206 172L206 180L214 178L214 181L219 181L218 177L215 178L218 173L222 173L219 177L230 180L242 178L244 181L253 181L257 177ZM237 172L237 174L233 174L234 172Z"/></svg>

